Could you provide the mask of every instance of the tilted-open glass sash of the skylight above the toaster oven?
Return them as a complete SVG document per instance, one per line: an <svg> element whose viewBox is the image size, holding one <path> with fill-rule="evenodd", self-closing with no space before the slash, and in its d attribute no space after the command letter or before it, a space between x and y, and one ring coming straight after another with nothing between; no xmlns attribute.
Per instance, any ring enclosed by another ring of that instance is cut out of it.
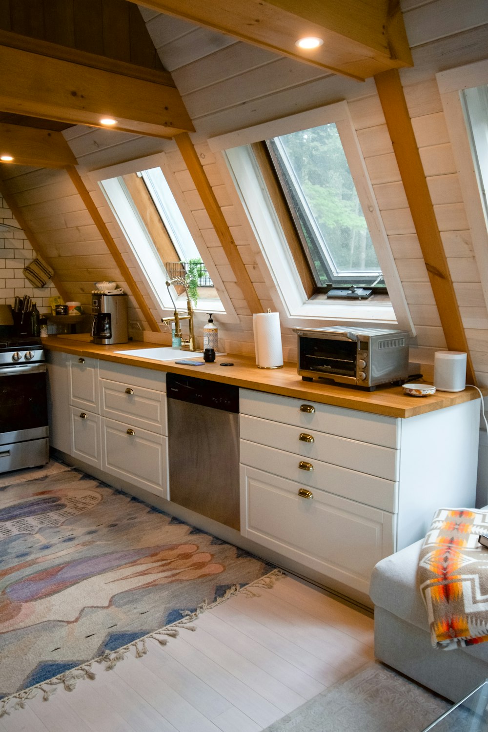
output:
<svg viewBox="0 0 488 732"><path fill-rule="evenodd" d="M267 141L318 288L378 283L381 269L337 125Z"/></svg>

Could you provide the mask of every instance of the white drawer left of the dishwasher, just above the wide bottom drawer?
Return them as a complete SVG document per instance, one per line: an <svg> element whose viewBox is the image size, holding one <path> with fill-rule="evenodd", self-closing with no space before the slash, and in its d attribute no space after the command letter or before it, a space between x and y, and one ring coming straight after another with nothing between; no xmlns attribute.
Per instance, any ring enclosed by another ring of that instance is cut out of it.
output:
<svg viewBox="0 0 488 732"><path fill-rule="evenodd" d="M127 384L127 386L126 386ZM160 435L166 434L166 395L143 386L132 386L128 381L100 381L101 412L103 417L129 422Z"/></svg>

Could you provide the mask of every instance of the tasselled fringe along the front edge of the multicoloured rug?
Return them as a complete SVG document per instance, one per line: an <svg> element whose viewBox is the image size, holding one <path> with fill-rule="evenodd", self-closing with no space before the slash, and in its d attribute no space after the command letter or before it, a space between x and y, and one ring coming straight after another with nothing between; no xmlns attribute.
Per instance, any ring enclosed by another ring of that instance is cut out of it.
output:
<svg viewBox="0 0 488 732"><path fill-rule="evenodd" d="M152 638L162 646L165 646L169 638L176 638L179 635L180 628L184 628L184 630L197 630L197 627L192 625L192 622L202 613L205 613L206 610L217 608L218 605L222 605L222 602L230 600L230 597L235 597L236 594L243 594L244 597L249 598L260 597L259 592L256 592L255 588L271 589L282 577L285 577L285 572L282 572L281 569L273 569L268 575L260 577L258 580L249 583L249 585L242 587L233 585L225 591L222 597L217 597L217 600L214 600L214 602L209 604L207 600L204 600L198 605L196 610L193 610L193 612L188 610L183 618L174 623L170 623L170 625L164 628L148 633L143 638L138 638L137 641L132 641L132 643L128 643L127 646L122 646L116 649L116 651L105 651L102 656L83 663L77 666L77 668L72 668L70 671L60 673L59 676L54 676L53 679L42 681L40 684L29 687L29 689L24 689L10 696L6 696L0 700L0 718L4 717L5 714L10 714L14 709L25 709L26 701L33 699L38 693L42 693L42 701L49 701L59 685L62 685L66 691L73 691L80 679L90 679L91 681L96 679L97 675L92 668L94 663L105 664L105 671L111 671L119 661L124 660L131 648L135 649L136 658L143 657L148 652L146 643L148 638Z"/></svg>

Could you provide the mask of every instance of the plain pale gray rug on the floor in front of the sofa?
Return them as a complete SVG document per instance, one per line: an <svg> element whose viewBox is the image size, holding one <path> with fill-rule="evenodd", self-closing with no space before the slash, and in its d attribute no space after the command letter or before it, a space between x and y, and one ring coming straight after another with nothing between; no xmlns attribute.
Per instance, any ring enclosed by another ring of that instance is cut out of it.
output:
<svg viewBox="0 0 488 732"><path fill-rule="evenodd" d="M446 699L377 661L318 694L264 732L421 732L450 706ZM444 729L459 732L459 726Z"/></svg>

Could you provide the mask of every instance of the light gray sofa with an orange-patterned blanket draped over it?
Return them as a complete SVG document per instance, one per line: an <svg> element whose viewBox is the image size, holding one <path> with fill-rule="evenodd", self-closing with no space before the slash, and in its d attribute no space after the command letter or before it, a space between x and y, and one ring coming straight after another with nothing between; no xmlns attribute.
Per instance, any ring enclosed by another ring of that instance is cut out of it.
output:
<svg viewBox="0 0 488 732"><path fill-rule="evenodd" d="M443 651L432 647L427 611L418 590L424 539L382 559L372 572L375 656L451 701L488 678L488 642Z"/></svg>

